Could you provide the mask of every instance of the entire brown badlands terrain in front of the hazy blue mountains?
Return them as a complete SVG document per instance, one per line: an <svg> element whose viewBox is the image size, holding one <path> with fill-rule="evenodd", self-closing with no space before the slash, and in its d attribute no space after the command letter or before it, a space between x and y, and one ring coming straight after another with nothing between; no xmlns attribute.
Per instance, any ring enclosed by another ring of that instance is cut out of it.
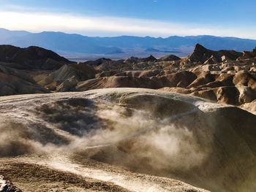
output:
<svg viewBox="0 0 256 192"><path fill-rule="evenodd" d="M186 58L80 64L39 47L4 50L2 183L21 191L256 190L256 49L196 45Z"/></svg>

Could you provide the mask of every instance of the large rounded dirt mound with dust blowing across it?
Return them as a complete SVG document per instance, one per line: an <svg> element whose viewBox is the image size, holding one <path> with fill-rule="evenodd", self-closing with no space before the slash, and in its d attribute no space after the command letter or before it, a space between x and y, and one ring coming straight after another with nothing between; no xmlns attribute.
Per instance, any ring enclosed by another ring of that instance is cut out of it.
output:
<svg viewBox="0 0 256 192"><path fill-rule="evenodd" d="M135 88L7 96L0 107L1 158L37 154L33 163L69 172L93 159L210 191L255 190L256 118L236 107Z"/></svg>

